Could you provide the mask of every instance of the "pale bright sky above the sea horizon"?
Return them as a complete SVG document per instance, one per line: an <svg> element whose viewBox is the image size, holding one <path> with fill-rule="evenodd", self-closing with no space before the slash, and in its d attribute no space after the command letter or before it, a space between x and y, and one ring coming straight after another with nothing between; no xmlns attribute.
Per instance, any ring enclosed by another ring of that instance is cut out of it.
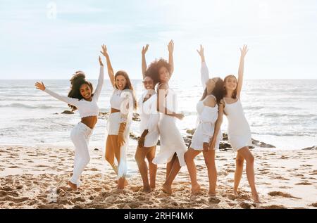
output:
<svg viewBox="0 0 317 223"><path fill-rule="evenodd" d="M0 0L0 79L97 79L101 44L140 79L142 46L167 59L170 39L175 79L199 79L199 44L211 75L237 74L247 44L246 79L317 78L314 0Z"/></svg>

